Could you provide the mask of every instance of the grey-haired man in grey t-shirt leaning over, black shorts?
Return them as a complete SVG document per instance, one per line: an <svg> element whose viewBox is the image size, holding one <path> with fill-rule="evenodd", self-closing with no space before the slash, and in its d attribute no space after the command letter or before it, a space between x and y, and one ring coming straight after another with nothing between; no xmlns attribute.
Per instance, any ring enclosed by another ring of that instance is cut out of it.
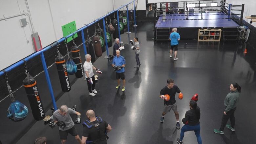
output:
<svg viewBox="0 0 256 144"><path fill-rule="evenodd" d="M77 114L77 119L75 122L81 123L81 113L76 112L72 110L71 108L68 108L66 105L62 105L60 109L56 110L53 113L53 121L56 123L56 125L59 126L59 135L61 139L61 144L65 144L68 133L72 136L75 136L75 139L78 141L78 143L81 143L81 139L77 133L77 130L75 129L75 124L73 120L70 117L70 114Z"/></svg>

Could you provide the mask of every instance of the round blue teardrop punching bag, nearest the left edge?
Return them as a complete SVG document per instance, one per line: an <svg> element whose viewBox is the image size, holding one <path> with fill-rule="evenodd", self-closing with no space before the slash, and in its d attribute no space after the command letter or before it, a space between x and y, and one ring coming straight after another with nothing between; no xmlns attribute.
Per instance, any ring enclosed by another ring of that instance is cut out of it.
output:
<svg viewBox="0 0 256 144"><path fill-rule="evenodd" d="M28 108L18 100L15 100L14 97L12 97L11 104L7 110L7 117L12 121L17 122L25 119L27 115Z"/></svg>

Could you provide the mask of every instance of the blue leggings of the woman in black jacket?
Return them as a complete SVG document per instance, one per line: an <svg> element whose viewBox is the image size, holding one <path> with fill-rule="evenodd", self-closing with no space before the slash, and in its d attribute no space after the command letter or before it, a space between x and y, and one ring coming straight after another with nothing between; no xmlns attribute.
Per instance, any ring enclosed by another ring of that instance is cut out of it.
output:
<svg viewBox="0 0 256 144"><path fill-rule="evenodd" d="M198 144L202 144L202 140L201 140L201 137L200 137L200 125L195 125L195 126L190 126L190 125L184 125L182 128L181 128L181 137L180 137L180 141L183 140L183 137L184 137L184 133L187 132L187 131L194 131L195 134L196 134L196 137L197 137L197 142Z"/></svg>

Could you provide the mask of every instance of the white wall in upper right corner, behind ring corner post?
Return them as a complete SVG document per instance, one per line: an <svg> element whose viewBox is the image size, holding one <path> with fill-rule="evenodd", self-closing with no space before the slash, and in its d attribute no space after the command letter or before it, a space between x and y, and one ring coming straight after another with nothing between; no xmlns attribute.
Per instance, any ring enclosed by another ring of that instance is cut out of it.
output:
<svg viewBox="0 0 256 144"><path fill-rule="evenodd" d="M255 15L256 14L256 1L255 0L245 0L245 1L241 1L241 0L226 0L227 3L232 4L232 5L242 5L245 4L245 8L244 8L244 16L243 16L243 20L247 21L248 23L251 21L251 19L246 19L245 16L251 16L251 15ZM232 9L241 9L241 7L233 7ZM232 11L234 13L239 13L241 11ZM256 27L256 22L252 22L252 24L254 27Z"/></svg>

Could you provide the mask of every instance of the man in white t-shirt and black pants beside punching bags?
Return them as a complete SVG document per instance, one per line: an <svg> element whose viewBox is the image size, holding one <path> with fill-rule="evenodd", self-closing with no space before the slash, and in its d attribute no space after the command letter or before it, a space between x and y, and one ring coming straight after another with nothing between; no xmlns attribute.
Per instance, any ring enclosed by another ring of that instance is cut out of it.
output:
<svg viewBox="0 0 256 144"><path fill-rule="evenodd" d="M90 54L86 54L85 59L86 59L86 61L84 62L83 67L84 67L84 71L85 71L85 79L87 81L89 95L95 96L95 93L98 93L98 92L94 89L95 79L94 79L93 69L94 70L98 70L98 69L96 69L93 66L93 64L91 62L91 55Z"/></svg>

